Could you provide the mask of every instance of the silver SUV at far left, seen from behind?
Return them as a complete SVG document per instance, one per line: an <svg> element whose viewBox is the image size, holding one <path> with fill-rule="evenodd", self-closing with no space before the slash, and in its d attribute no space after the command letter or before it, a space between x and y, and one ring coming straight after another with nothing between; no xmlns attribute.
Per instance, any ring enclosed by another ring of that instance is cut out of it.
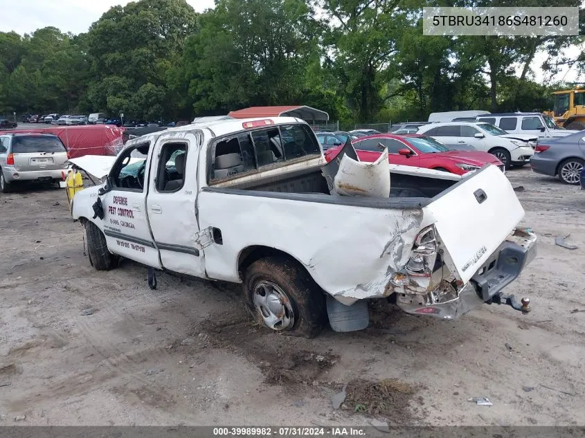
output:
<svg viewBox="0 0 585 438"><path fill-rule="evenodd" d="M0 192L19 181L60 181L67 168L67 151L51 134L0 135Z"/></svg>

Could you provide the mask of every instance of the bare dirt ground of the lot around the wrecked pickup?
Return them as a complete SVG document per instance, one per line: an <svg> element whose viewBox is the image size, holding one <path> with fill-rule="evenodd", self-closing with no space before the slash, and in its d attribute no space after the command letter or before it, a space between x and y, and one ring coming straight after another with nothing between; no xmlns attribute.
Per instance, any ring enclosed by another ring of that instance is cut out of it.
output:
<svg viewBox="0 0 585 438"><path fill-rule="evenodd" d="M370 328L313 340L254 325L239 285L93 271L63 190L0 194L0 425L584 425L585 192L507 175L539 237L508 288L531 313L447 322L379 302Z"/></svg>

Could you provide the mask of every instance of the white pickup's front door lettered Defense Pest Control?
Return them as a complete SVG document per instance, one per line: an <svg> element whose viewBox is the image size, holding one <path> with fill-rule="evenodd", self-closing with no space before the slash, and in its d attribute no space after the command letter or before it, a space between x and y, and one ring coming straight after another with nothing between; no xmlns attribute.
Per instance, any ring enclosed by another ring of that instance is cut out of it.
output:
<svg viewBox="0 0 585 438"><path fill-rule="evenodd" d="M105 214L102 223L112 253L160 268L145 209L149 148L150 144L144 143L118 156L108 175L109 190L100 196Z"/></svg>

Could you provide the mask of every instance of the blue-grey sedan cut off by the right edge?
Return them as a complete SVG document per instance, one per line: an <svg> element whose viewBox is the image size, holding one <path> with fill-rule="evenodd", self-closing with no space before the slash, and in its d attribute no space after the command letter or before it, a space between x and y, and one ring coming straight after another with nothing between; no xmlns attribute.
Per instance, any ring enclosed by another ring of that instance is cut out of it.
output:
<svg viewBox="0 0 585 438"><path fill-rule="evenodd" d="M530 158L534 172L559 176L565 184L579 184L585 164L585 131L543 140Z"/></svg>

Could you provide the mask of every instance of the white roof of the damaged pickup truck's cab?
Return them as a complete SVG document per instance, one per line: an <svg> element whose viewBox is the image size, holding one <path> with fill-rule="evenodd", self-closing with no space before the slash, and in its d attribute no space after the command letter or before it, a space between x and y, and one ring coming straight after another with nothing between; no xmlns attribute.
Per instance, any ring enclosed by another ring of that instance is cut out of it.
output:
<svg viewBox="0 0 585 438"><path fill-rule="evenodd" d="M152 134L145 134L137 138L132 138L132 140L128 140L127 143L124 145L123 150L134 145L145 143L145 141L156 140L156 138L159 138L159 136L172 137L174 133L195 131L195 129L208 129L215 137L225 136L226 134L234 134L236 132L248 129L244 128L244 124L246 124L247 122L254 122L257 120L271 120L273 123L271 125L267 125L267 127L274 125L289 125L291 123L303 123L308 126L305 120L301 120L300 118L296 117L260 117L240 118L231 120L210 120L204 122L190 123L189 125L169 128L165 129L164 131L157 131L153 132Z"/></svg>

